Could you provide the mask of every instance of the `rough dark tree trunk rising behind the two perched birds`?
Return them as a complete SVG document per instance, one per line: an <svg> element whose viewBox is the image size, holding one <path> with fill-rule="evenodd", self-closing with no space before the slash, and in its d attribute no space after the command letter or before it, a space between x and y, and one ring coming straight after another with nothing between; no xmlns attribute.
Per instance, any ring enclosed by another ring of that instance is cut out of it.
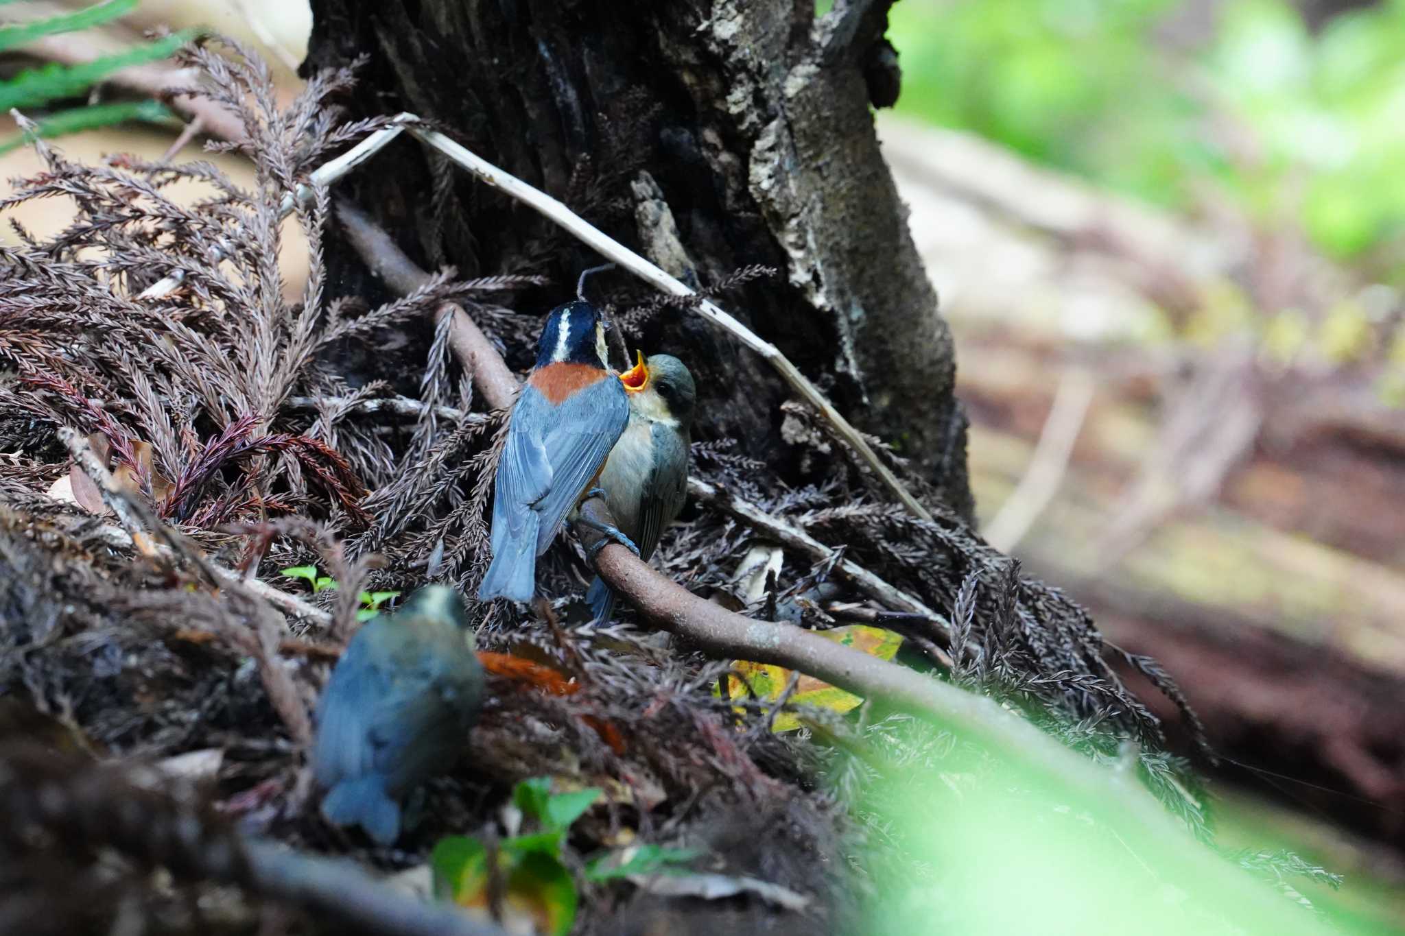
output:
<svg viewBox="0 0 1405 936"><path fill-rule="evenodd" d="M840 0L816 20L808 0L313 0L303 69L368 56L355 116L438 121L684 281L781 269L724 305L969 518L951 338L873 128L871 101L896 93L888 6ZM599 262L410 140L341 185L424 265L551 275L528 299L541 312ZM378 292L347 248L329 253L341 292ZM702 438L795 477L764 362L687 314L636 338L694 370Z"/></svg>

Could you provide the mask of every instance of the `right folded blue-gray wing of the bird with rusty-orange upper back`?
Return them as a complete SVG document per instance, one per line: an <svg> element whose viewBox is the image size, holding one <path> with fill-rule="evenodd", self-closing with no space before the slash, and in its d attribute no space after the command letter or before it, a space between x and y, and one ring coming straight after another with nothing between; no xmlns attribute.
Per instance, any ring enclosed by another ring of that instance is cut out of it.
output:
<svg viewBox="0 0 1405 936"><path fill-rule="evenodd" d="M628 421L629 400L624 385L614 377L597 380L556 407L552 427L542 439L551 463L551 488L532 505L541 516L538 556L547 551Z"/></svg>

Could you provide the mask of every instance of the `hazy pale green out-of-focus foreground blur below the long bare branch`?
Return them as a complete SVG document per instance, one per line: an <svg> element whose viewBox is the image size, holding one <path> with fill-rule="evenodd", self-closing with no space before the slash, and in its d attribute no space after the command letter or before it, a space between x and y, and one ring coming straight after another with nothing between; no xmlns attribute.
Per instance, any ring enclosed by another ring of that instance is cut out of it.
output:
<svg viewBox="0 0 1405 936"><path fill-rule="evenodd" d="M860 796L856 813L906 855L892 867L868 869L882 884L865 915L867 932L1397 932L1335 909L1331 897L1324 900L1332 894L1328 876L1249 873L1193 841L1169 815L1161 828L1130 820L1109 789L1068 790L1035 770L992 766L969 745L946 747L929 769L889 773L902 779L865 786ZM1139 786L1116 765L1109 779L1113 789Z"/></svg>

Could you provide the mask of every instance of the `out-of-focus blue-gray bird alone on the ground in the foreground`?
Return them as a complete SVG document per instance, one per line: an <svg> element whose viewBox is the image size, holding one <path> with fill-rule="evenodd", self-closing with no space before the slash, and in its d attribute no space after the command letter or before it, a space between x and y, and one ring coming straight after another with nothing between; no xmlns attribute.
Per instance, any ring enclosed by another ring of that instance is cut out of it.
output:
<svg viewBox="0 0 1405 936"><path fill-rule="evenodd" d="M427 585L367 622L318 704L312 769L322 814L381 845L400 835L400 801L458 759L478 718L483 667L458 592Z"/></svg>

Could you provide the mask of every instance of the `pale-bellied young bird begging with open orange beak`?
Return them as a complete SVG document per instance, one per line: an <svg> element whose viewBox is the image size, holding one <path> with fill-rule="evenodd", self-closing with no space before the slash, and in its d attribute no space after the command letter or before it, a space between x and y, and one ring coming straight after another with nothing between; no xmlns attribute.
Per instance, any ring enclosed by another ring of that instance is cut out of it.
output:
<svg viewBox="0 0 1405 936"><path fill-rule="evenodd" d="M629 425L600 473L600 487L620 530L653 556L659 537L683 509L688 484L688 428L697 390L683 362L667 354L639 355L620 375L629 396ZM597 620L608 620L614 592L596 577L586 601Z"/></svg>

